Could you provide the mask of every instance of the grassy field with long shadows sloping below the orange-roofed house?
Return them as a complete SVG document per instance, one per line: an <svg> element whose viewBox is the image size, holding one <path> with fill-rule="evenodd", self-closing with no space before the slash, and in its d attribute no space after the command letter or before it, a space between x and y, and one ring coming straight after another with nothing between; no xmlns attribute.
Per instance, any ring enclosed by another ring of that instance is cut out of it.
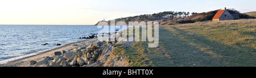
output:
<svg viewBox="0 0 256 78"><path fill-rule="evenodd" d="M159 46L118 46L130 66L256 66L256 21L225 20L159 27Z"/></svg>

